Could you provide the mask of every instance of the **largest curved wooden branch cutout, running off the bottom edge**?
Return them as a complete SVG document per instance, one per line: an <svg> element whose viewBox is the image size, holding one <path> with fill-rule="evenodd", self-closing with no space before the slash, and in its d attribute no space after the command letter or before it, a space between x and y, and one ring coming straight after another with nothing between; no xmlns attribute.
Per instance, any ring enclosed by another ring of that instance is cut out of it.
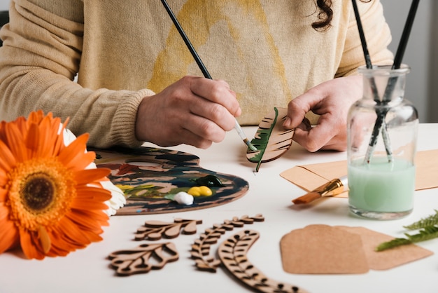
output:
<svg viewBox="0 0 438 293"><path fill-rule="evenodd" d="M225 240L218 249L218 254L225 268L241 282L255 289L257 292L266 293L305 293L295 285L276 282L267 278L259 269L248 261L246 254L250 247L259 238L257 231L245 230L234 234Z"/></svg>

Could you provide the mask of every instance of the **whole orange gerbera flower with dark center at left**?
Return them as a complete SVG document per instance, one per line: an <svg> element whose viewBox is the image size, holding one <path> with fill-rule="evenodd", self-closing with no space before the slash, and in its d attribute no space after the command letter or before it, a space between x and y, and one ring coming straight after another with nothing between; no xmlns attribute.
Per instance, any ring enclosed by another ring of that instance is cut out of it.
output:
<svg viewBox="0 0 438 293"><path fill-rule="evenodd" d="M43 259L101 240L109 170L85 170L95 158L88 135L66 147L64 125L43 111L0 123L0 253L20 245Z"/></svg>

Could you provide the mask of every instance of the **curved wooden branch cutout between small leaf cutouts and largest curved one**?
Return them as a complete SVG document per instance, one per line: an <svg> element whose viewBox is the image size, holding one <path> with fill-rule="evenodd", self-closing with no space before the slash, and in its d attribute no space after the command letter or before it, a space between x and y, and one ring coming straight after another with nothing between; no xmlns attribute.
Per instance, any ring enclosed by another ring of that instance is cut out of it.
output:
<svg viewBox="0 0 438 293"><path fill-rule="evenodd" d="M232 220L225 220L223 224L214 224L213 228L206 229L192 244L192 259L195 259L195 264L199 270L210 271L216 273L216 269L220 266L220 260L209 257L210 246L217 243L218 239L226 231L232 231L234 227L243 227L245 224L253 224L253 222L263 222L262 214L257 214L255 217L242 216L240 219L234 217Z"/></svg>

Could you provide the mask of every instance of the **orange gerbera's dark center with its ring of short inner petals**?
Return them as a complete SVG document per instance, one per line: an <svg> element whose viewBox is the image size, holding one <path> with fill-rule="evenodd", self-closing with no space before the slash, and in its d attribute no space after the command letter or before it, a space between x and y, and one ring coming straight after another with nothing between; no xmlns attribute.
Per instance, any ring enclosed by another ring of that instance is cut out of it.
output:
<svg viewBox="0 0 438 293"><path fill-rule="evenodd" d="M10 217L29 231L56 226L76 198L76 180L57 158L35 158L9 173Z"/></svg>

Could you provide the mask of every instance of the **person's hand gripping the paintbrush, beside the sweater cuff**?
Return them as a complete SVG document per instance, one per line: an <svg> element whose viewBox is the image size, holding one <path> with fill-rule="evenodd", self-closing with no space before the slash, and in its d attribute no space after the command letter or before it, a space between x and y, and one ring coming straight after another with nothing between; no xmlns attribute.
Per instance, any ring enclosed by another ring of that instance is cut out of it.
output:
<svg viewBox="0 0 438 293"><path fill-rule="evenodd" d="M136 117L136 138L161 147L190 144L206 149L225 138L241 114L225 81L185 76L145 97Z"/></svg>

